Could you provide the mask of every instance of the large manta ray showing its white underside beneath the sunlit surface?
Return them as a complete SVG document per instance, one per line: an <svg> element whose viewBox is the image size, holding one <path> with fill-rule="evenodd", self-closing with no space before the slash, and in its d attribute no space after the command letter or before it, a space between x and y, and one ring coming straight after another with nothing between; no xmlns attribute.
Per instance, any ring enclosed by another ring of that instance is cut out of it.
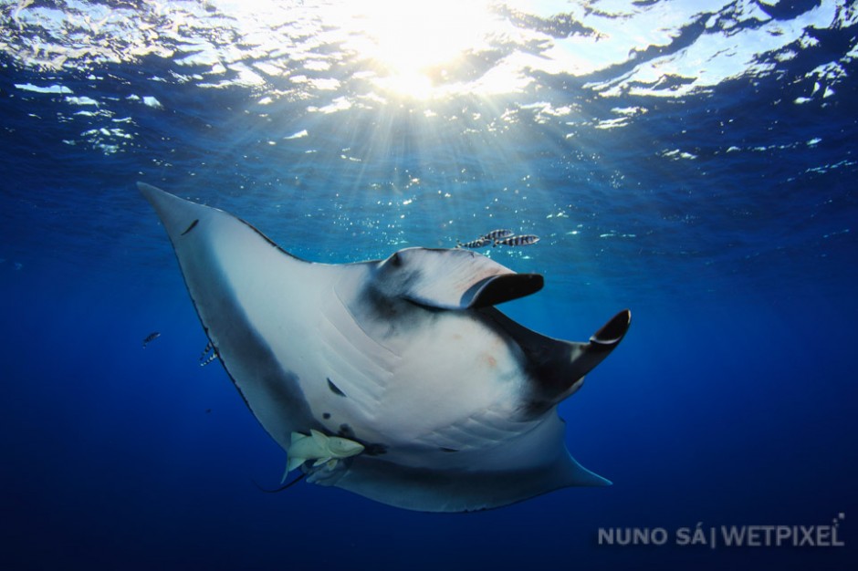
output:
<svg viewBox="0 0 858 571"><path fill-rule="evenodd" d="M628 310L585 343L545 337L495 307L541 275L461 248L308 262L229 213L138 186L287 472L428 512L610 484L570 456L557 406L623 339Z"/></svg>

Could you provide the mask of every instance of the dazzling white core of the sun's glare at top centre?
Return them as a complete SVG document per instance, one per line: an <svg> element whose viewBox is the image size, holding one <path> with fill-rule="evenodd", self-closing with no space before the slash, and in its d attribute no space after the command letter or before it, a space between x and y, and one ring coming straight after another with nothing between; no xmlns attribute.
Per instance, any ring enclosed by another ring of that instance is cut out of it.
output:
<svg viewBox="0 0 858 571"><path fill-rule="evenodd" d="M440 79L485 45L491 21L481 0L373 0L353 15L358 50L376 63L378 85L417 99L444 91Z"/></svg>

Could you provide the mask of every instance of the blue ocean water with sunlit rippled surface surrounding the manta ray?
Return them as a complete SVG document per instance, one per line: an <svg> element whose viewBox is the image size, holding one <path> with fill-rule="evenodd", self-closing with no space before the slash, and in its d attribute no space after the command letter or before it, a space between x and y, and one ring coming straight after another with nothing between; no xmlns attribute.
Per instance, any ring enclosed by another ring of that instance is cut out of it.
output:
<svg viewBox="0 0 858 571"><path fill-rule="evenodd" d="M474 5L0 2L0 565L853 568L854 5ZM285 454L199 366L137 181L320 262L539 235L483 251L545 276L507 315L583 341L633 312L560 405L613 485L475 514L260 492ZM754 525L843 545L708 535Z"/></svg>

